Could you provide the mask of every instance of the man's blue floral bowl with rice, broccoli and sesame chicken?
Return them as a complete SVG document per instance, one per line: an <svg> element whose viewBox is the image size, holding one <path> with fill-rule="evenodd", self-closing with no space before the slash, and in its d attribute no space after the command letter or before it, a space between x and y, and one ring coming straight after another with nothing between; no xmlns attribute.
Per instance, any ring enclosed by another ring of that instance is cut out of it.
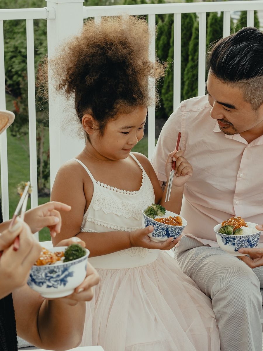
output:
<svg viewBox="0 0 263 351"><path fill-rule="evenodd" d="M233 256L245 256L239 249L258 245L261 231L256 223L245 222L241 217L231 217L214 227L218 245Z"/></svg>

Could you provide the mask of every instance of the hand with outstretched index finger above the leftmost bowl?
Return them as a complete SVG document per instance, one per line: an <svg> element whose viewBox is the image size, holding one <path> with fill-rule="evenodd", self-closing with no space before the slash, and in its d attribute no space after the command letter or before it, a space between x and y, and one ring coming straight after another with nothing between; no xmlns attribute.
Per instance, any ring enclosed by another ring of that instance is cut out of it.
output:
<svg viewBox="0 0 263 351"><path fill-rule="evenodd" d="M32 208L25 213L25 222L32 233L38 232L43 227L48 227L50 235L54 238L61 229L61 216L59 211L70 211L71 207L61 202L51 201Z"/></svg>

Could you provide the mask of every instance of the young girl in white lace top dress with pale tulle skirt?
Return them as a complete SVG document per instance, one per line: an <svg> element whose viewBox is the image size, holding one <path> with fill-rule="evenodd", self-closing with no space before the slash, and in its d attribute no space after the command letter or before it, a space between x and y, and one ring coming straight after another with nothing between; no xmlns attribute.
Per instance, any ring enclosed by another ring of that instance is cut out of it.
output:
<svg viewBox="0 0 263 351"><path fill-rule="evenodd" d="M52 62L50 62L52 64ZM132 148L143 137L148 78L164 73L148 59L148 27L129 17L89 20L53 61L58 89L75 98L86 146L63 165L52 200L72 206L53 243L76 235L100 274L87 305L82 345L106 351L220 350L211 302L176 262L160 250L178 240L150 240L142 210L160 203L179 213L192 168L182 151L169 203L148 159ZM159 250L158 250L159 249Z"/></svg>

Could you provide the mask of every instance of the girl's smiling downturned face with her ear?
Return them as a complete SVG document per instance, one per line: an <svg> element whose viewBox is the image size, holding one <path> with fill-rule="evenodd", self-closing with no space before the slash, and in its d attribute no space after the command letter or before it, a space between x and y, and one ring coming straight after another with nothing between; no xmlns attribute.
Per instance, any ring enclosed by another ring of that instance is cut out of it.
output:
<svg viewBox="0 0 263 351"><path fill-rule="evenodd" d="M110 160L123 160L143 137L147 108L137 107L129 113L120 113L110 120L101 136L99 131L89 133L90 143L98 154Z"/></svg>

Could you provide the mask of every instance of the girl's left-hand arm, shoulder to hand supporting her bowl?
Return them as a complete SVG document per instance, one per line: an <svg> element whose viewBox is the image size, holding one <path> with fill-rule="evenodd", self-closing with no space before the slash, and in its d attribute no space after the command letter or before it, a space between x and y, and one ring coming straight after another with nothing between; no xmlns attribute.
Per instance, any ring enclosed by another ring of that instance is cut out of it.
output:
<svg viewBox="0 0 263 351"><path fill-rule="evenodd" d="M76 181L75 179L78 180ZM61 212L61 232L52 239L54 245L60 240L77 236L85 241L86 247L90 251L90 257L129 249L133 246L160 250L170 250L175 246L176 240L173 241L171 240L172 238L169 238L163 243L155 243L150 240L148 233L153 231L151 227L139 229L134 232L80 232L83 216L92 199L92 195L92 180L87 176L86 171L81 165L69 161L60 168L52 188L51 199L66 202L71 206L71 211L68 213Z"/></svg>

